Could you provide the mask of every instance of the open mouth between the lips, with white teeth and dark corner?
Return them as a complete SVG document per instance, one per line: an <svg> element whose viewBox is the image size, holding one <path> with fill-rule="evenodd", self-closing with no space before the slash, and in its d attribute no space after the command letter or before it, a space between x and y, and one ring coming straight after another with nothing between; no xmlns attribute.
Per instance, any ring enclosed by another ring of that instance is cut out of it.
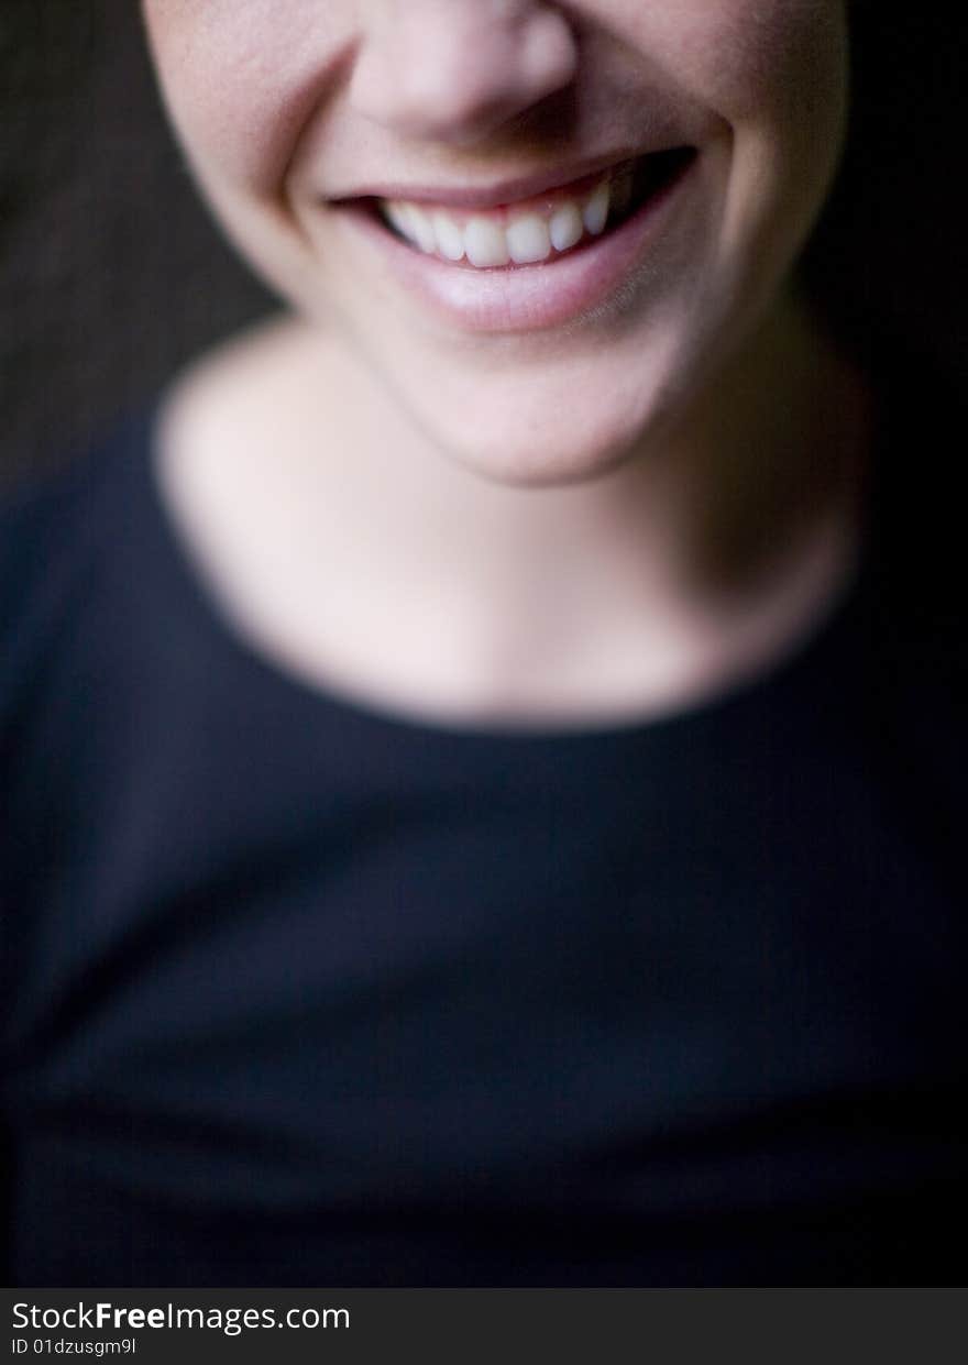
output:
<svg viewBox="0 0 968 1365"><path fill-rule="evenodd" d="M543 265L580 251L649 206L685 171L695 147L623 161L517 203L459 212L431 201L367 201L377 222L414 251L471 270Z"/></svg>

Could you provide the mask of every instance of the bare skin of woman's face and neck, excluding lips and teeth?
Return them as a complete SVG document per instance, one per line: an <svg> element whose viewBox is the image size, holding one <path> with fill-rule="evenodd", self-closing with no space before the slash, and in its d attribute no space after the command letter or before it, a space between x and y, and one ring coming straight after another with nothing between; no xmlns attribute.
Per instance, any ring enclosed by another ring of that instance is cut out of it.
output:
<svg viewBox="0 0 968 1365"><path fill-rule="evenodd" d="M143 8L203 194L300 319L197 367L162 438L264 648L411 710L614 717L808 628L849 573L866 422L792 283L844 138L842 0ZM674 229L567 325L431 315L340 206L657 130L699 153ZM395 642L423 662L389 685Z"/></svg>

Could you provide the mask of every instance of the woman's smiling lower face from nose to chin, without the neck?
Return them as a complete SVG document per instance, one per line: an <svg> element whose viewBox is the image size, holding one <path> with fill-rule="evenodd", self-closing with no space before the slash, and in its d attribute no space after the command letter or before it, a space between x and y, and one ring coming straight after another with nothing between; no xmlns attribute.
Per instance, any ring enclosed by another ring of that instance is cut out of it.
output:
<svg viewBox="0 0 968 1365"><path fill-rule="evenodd" d="M251 263L436 444L586 478L780 306L836 169L845 0L145 0Z"/></svg>

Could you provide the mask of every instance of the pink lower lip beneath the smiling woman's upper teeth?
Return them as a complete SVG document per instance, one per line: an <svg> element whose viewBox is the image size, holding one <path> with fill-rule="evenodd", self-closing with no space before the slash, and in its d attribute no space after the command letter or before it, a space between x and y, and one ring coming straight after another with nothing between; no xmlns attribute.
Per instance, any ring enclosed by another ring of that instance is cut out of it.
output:
<svg viewBox="0 0 968 1365"><path fill-rule="evenodd" d="M362 207L341 217L381 253L393 277L441 321L470 332L539 332L601 307L647 259L695 173L694 156L617 228L554 261L478 270L407 246Z"/></svg>

